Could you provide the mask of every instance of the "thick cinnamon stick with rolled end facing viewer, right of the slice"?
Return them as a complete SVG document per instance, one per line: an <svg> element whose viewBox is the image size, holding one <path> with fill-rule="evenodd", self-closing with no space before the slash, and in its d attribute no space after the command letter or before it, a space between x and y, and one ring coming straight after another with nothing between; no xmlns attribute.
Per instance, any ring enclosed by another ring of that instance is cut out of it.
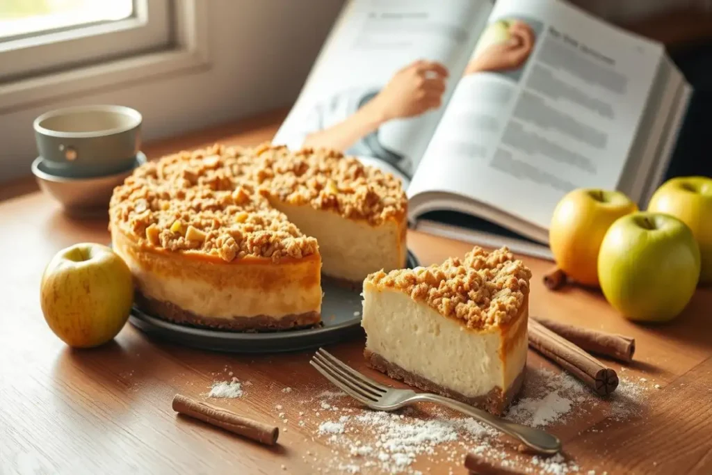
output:
<svg viewBox="0 0 712 475"><path fill-rule="evenodd" d="M553 360L601 396L618 387L618 375L566 338L536 320L529 320L529 346Z"/></svg>

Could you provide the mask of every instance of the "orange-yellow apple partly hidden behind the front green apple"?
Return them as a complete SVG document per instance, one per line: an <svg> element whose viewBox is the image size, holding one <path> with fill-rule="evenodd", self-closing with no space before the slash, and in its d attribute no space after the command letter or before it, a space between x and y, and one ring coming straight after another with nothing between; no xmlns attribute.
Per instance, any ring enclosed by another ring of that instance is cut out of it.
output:
<svg viewBox="0 0 712 475"><path fill-rule="evenodd" d="M557 204L549 226L549 246L556 265L586 286L598 286L598 250L606 231L637 204L621 192L575 189Z"/></svg>

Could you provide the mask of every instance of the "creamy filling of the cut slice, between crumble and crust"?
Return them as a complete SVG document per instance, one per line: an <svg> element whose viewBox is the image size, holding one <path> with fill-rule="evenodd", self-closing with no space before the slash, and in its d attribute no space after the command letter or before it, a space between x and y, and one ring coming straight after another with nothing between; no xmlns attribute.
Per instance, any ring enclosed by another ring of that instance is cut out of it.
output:
<svg viewBox="0 0 712 475"><path fill-rule="evenodd" d="M503 329L473 330L405 293L364 290L366 348L387 362L467 398L504 394L523 372L526 315Z"/></svg>

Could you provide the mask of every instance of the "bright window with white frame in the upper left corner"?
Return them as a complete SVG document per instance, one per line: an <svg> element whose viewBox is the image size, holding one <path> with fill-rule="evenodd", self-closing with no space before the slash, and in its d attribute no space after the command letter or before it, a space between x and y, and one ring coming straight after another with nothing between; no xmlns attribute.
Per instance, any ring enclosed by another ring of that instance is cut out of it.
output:
<svg viewBox="0 0 712 475"><path fill-rule="evenodd" d="M207 0L0 0L0 116L209 68Z"/></svg>

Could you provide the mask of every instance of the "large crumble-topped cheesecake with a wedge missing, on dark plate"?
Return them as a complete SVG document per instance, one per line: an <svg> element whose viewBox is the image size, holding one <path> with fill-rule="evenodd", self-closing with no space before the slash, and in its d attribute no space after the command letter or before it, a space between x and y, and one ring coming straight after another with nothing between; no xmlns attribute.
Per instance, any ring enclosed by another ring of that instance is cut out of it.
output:
<svg viewBox="0 0 712 475"><path fill-rule="evenodd" d="M320 322L322 272L404 266L406 207L398 179L337 152L215 145L139 167L109 229L152 314L283 330Z"/></svg>

